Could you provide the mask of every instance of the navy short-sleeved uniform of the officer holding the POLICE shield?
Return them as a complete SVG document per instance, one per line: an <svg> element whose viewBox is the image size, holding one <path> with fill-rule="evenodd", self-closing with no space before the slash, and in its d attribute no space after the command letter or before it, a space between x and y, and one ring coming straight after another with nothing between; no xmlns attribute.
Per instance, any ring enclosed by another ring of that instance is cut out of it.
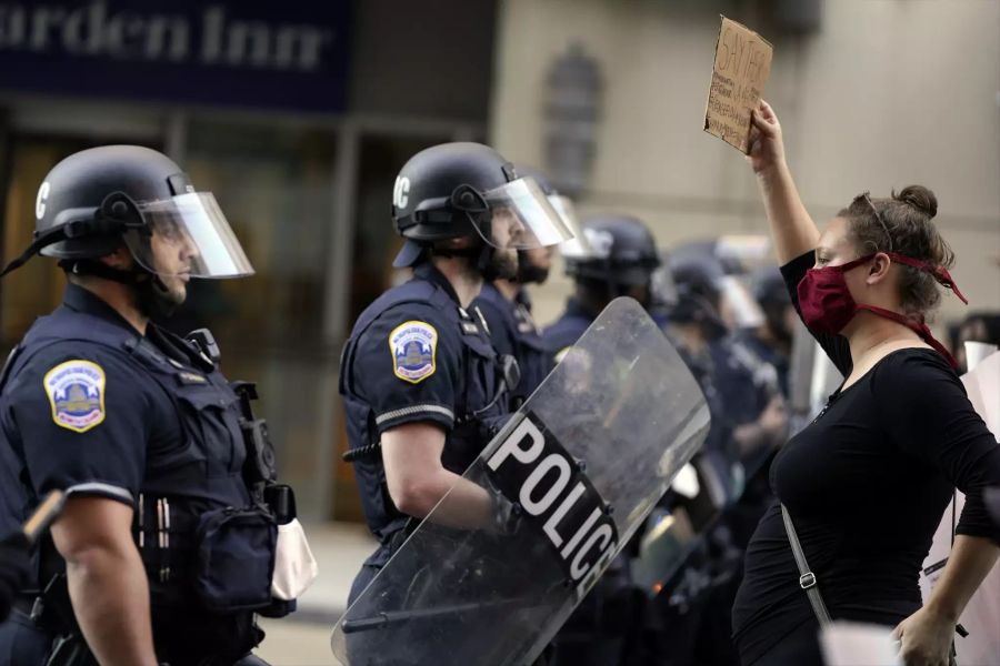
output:
<svg viewBox="0 0 1000 666"><path fill-rule="evenodd" d="M462 474L507 413L497 354L477 310L461 307L430 263L358 317L343 351L340 392L368 526L381 545L351 589L353 601L389 561L409 516L392 504L379 442L389 428L433 423L446 433L443 466Z"/></svg>

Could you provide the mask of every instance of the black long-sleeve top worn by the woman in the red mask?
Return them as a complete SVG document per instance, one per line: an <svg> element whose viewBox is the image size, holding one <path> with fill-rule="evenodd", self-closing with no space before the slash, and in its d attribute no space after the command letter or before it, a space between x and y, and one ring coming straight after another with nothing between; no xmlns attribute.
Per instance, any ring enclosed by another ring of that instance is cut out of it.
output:
<svg viewBox="0 0 1000 666"><path fill-rule="evenodd" d="M796 310L796 287L813 263L809 252L781 269ZM813 336L850 374L847 340ZM966 494L956 532L1000 543L982 498L1000 485L1000 445L932 350L892 352L834 392L778 453L770 483L777 500L747 548L732 609L743 666L814 618L779 502L833 618L894 625L920 607L920 567L956 486Z"/></svg>

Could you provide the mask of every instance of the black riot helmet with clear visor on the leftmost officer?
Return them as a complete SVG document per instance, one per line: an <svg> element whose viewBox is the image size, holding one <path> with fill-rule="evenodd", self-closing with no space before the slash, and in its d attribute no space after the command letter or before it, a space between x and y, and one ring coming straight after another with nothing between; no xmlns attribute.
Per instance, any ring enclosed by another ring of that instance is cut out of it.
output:
<svg viewBox="0 0 1000 666"><path fill-rule="evenodd" d="M104 145L66 158L39 188L34 212L33 241L3 274L38 253L77 273L132 283L134 275L97 261L122 243L138 270L152 275L253 274L216 198L194 190L180 167L148 148ZM159 261L163 246L180 260Z"/></svg>

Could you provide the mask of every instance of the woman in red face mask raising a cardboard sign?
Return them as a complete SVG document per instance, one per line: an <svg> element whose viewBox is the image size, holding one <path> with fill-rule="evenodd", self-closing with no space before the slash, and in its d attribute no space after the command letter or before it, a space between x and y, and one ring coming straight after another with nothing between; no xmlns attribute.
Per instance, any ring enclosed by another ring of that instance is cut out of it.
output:
<svg viewBox="0 0 1000 666"><path fill-rule="evenodd" d="M792 301L846 380L771 466L777 500L733 605L740 658L821 664L818 632L832 617L894 627L908 666L946 665L958 618L1000 555L983 503L1000 484L1000 445L926 324L939 286L964 300L931 222L937 200L919 185L864 193L820 234L763 101L750 141ZM967 501L954 545L921 606L920 567L956 486Z"/></svg>

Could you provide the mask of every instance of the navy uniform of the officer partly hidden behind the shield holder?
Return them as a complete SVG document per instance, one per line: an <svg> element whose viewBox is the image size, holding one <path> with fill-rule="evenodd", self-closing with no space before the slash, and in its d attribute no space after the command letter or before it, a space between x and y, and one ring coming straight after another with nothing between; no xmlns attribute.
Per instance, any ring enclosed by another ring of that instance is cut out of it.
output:
<svg viewBox="0 0 1000 666"><path fill-rule="evenodd" d="M511 410L517 410L552 370L552 355L547 352L541 332L531 319L528 292L520 289L511 302L492 283L487 283L476 300L476 306L489 325L490 340L497 353L501 356L509 354L518 361L521 381L511 391Z"/></svg>

